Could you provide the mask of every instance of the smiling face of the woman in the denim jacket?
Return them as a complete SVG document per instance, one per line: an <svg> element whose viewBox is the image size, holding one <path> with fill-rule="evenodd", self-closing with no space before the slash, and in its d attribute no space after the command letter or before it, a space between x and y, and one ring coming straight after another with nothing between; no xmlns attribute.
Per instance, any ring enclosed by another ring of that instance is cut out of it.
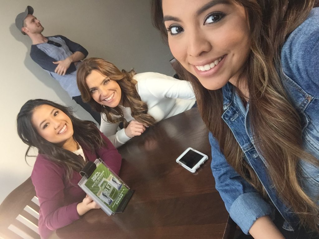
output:
<svg viewBox="0 0 319 239"><path fill-rule="evenodd" d="M236 85L250 52L245 9L232 0L163 0L174 57L209 90Z"/></svg>

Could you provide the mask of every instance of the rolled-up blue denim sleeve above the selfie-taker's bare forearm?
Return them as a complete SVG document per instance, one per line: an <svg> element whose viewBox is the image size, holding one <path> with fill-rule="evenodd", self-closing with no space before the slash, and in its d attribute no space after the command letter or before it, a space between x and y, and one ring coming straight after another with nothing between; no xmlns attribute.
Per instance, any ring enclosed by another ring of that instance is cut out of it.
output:
<svg viewBox="0 0 319 239"><path fill-rule="evenodd" d="M230 217L245 234L249 234L254 222L259 217L271 215L273 208L227 163L225 156L220 152L218 141L211 133L209 141L212 155L211 170L216 189Z"/></svg>

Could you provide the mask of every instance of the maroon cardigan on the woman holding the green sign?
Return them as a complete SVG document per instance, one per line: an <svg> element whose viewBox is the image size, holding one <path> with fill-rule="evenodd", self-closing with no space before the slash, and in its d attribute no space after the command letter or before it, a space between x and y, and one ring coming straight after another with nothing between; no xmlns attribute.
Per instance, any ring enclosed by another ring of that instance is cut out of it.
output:
<svg viewBox="0 0 319 239"><path fill-rule="evenodd" d="M101 133L107 147L91 152L83 148L86 161L101 158L116 174L121 168L122 158L104 134ZM46 159L42 154L37 156L31 174L32 183L40 202L39 232L41 238L48 238L52 230L69 225L80 218L77 205L85 198L85 192L78 186L81 176L73 172L71 180L65 177L65 169Z"/></svg>

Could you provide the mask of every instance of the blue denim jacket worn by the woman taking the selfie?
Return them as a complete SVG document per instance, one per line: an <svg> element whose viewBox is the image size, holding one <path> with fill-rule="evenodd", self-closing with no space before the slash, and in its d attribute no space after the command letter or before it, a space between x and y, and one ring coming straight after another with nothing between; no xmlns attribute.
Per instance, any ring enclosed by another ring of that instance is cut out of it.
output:
<svg viewBox="0 0 319 239"><path fill-rule="evenodd" d="M308 18L289 35L281 51L281 64L283 86L300 114L303 148L319 160L319 8L314 8ZM293 230L298 226L298 217L277 197L267 174L265 160L256 150L247 117L249 103L247 108L244 107L235 87L230 83L222 90L222 119L232 130L244 152L245 160L256 172L272 202L266 202L227 163L220 152L218 141L210 133L211 169L216 189L227 211L242 231L248 234L256 219L271 215L275 206L286 220L284 228ZM307 195L314 199L319 195L319 168L302 159L299 166L300 184Z"/></svg>

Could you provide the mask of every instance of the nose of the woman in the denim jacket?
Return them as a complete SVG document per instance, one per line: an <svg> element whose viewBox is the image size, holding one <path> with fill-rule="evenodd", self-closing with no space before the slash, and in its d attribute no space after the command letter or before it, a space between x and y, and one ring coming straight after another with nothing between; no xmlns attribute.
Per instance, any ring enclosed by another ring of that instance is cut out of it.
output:
<svg viewBox="0 0 319 239"><path fill-rule="evenodd" d="M189 56L199 57L206 52L211 51L211 42L200 29L189 31L187 53Z"/></svg>

